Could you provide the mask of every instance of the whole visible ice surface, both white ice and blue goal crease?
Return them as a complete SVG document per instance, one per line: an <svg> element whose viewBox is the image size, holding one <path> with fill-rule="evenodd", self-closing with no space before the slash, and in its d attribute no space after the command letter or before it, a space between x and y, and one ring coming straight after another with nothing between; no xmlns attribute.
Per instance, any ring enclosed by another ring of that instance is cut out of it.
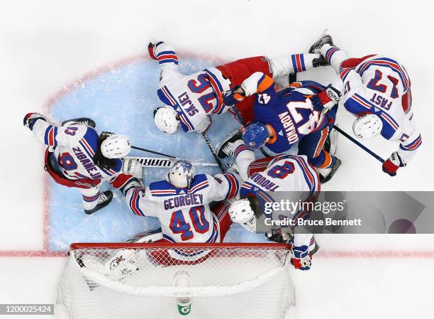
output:
<svg viewBox="0 0 434 319"><path fill-rule="evenodd" d="M0 303L54 303L69 242L123 241L156 225L128 215L120 193L111 208L84 216L79 194L48 180L44 148L22 124L26 113L40 112L57 123L93 117L97 129L114 126L138 146L157 141L157 150L202 156L202 151L182 153L182 143L196 137L165 144L148 131L154 129L148 124L157 106L158 79L157 65L148 58L149 40L173 45L180 64L184 61L182 70L189 72L207 63L306 52L328 28L335 45L350 56L390 53L406 66L423 146L391 178L341 137L343 166L323 189L432 191L431 20L417 1L1 2ZM333 72L321 68L299 78L327 85ZM226 134L218 133L222 124L214 119L216 144ZM352 117L342 108L338 123L351 131ZM379 136L364 143L384 158L397 147ZM158 174L145 169L145 183ZM237 238L256 239L235 227L228 239ZM434 235L334 234L317 240L321 253L313 257L312 269L291 270L297 319L434 317Z"/></svg>

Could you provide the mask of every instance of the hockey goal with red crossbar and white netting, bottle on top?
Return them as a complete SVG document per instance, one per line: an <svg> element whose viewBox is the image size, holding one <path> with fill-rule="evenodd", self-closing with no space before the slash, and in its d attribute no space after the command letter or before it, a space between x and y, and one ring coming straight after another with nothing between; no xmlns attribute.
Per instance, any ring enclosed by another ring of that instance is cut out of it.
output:
<svg viewBox="0 0 434 319"><path fill-rule="evenodd" d="M293 318L286 244L72 244L57 318Z"/></svg>

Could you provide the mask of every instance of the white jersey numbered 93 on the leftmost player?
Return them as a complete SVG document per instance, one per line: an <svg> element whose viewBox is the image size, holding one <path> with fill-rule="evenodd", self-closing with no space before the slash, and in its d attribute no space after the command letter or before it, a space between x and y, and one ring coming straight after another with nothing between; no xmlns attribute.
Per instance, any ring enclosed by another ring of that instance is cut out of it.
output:
<svg viewBox="0 0 434 319"><path fill-rule="evenodd" d="M94 128L69 122L66 126L52 126L44 119L33 124L35 139L50 146L57 169L69 180L91 178L112 180L122 169L122 161L116 159L116 166L104 169L94 164L94 154L99 148L99 135Z"/></svg>

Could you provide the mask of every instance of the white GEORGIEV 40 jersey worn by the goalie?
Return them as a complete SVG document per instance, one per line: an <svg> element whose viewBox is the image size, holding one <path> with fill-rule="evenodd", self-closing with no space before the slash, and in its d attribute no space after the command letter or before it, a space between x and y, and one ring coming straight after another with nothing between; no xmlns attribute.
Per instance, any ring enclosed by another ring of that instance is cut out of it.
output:
<svg viewBox="0 0 434 319"><path fill-rule="evenodd" d="M165 180L147 188L126 185L126 202L135 215L160 220L163 238L169 242L220 242L219 220L209 204L238 195L239 177L225 173L196 175L190 188L175 188Z"/></svg>

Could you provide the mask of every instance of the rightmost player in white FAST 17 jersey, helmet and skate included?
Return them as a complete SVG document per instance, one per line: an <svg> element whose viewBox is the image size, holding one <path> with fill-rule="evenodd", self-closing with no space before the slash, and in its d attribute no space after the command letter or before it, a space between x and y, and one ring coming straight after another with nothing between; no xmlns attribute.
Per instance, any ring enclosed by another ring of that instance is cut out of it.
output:
<svg viewBox="0 0 434 319"><path fill-rule="evenodd" d="M360 139L381 134L399 142L398 151L384 161L383 171L396 175L422 144L421 133L411 119L411 83L401 63L386 55L348 58L344 50L324 35L309 52L321 53L344 82L343 104L357 116L352 129Z"/></svg>

